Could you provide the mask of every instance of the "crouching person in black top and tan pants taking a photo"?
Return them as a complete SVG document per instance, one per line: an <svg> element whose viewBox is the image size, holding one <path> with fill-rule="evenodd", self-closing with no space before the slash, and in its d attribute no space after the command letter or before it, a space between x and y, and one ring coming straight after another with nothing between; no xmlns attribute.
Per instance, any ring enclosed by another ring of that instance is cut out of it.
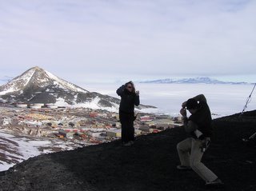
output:
<svg viewBox="0 0 256 191"><path fill-rule="evenodd" d="M191 113L189 118L186 117L186 109ZM180 113L184 128L191 137L177 145L178 157L181 162L177 169L193 169L206 181L206 185L222 185L222 181L201 162L202 155L210 145L212 136L212 118L206 97L200 94L183 102Z"/></svg>

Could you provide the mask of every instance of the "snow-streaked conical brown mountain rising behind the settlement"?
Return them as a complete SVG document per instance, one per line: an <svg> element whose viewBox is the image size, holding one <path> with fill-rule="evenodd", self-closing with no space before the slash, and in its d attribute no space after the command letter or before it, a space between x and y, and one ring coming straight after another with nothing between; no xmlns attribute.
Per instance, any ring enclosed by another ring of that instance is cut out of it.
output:
<svg viewBox="0 0 256 191"><path fill-rule="evenodd" d="M38 66L0 86L0 100L26 104L54 104L118 111L120 99L90 92ZM140 105L138 109L150 108Z"/></svg>

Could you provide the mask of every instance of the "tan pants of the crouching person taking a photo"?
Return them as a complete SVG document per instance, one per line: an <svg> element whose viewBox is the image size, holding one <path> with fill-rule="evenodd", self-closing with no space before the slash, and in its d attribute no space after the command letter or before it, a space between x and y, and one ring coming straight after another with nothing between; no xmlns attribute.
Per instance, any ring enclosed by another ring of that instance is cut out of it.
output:
<svg viewBox="0 0 256 191"><path fill-rule="evenodd" d="M192 137L186 138L177 145L178 157L181 165L190 166L203 180L214 181L218 177L201 162L203 155L202 144L203 141L201 140L196 140Z"/></svg>

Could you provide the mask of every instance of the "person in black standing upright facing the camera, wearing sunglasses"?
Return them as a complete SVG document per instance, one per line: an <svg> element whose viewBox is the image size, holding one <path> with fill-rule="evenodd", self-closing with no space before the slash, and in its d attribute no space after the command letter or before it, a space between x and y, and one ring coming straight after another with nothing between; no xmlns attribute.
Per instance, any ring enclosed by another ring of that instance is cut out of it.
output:
<svg viewBox="0 0 256 191"><path fill-rule="evenodd" d="M121 97L119 105L119 119L122 125L122 144L130 146L134 144L134 105L139 105L139 92L135 91L134 83L127 82L117 90Z"/></svg>

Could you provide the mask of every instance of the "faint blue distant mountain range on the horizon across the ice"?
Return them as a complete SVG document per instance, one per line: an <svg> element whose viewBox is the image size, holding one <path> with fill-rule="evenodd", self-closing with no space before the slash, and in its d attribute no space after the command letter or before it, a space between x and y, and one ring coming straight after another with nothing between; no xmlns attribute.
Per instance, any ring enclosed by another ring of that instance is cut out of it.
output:
<svg viewBox="0 0 256 191"><path fill-rule="evenodd" d="M208 77L198 77L198 78L166 78L166 79L158 79L158 80L150 80L150 81L141 81L140 83L158 83L158 84L247 84L247 82L222 82L216 79L208 78Z"/></svg>

